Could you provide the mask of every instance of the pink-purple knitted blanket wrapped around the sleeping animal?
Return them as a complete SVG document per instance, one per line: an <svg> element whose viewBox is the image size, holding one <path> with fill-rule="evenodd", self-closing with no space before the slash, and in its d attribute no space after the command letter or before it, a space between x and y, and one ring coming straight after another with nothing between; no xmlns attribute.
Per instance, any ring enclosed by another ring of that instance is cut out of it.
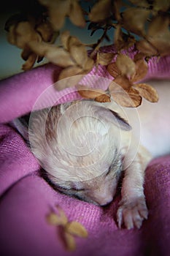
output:
<svg viewBox="0 0 170 256"><path fill-rule="evenodd" d="M158 63L151 60L147 78L170 78L169 65L170 56ZM116 211L120 195L101 208L55 191L40 175L39 164L23 138L8 126L8 121L31 111L60 71L47 64L0 81L0 255L170 255L170 155L147 167L147 221L140 230L119 230ZM109 78L104 67L97 75ZM73 89L58 93L61 102L76 98ZM66 251L58 227L46 221L56 204L69 221L77 220L88 230L88 238L76 238L74 252Z"/></svg>

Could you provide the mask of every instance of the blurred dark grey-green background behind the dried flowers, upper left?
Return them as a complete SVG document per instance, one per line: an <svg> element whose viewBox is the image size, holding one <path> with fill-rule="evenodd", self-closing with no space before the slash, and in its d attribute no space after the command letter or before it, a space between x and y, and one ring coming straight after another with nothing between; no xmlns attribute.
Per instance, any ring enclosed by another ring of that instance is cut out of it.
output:
<svg viewBox="0 0 170 256"><path fill-rule="evenodd" d="M90 5L93 4L94 1L82 1L82 7L84 10L89 10ZM0 10L0 79L8 78L11 75L15 75L19 72L23 72L21 69L22 64L24 63L23 59L20 57L21 49L17 48L15 45L10 45L7 42L7 31L4 30L5 23L7 19L20 11L29 11L36 10L36 0L29 1L21 1L15 0L10 1L6 0L3 3L3 7ZM77 26L72 25L69 22L69 19L66 18L65 25L63 30L69 30L72 35L75 35L80 38L82 42L85 43L93 43L96 42L102 31L96 31L92 37L90 37L90 31L88 30L88 23L85 29L79 29ZM112 29L109 31L109 36L112 39ZM103 42L104 45L109 42ZM38 65L45 64L47 62L46 59L43 59L39 64L34 65L34 67Z"/></svg>

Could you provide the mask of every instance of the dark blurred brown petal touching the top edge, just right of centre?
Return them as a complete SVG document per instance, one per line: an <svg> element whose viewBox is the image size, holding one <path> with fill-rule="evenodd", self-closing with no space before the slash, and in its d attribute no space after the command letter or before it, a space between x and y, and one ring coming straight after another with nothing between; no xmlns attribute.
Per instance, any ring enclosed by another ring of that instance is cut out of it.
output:
<svg viewBox="0 0 170 256"><path fill-rule="evenodd" d="M110 10L112 10L111 0L100 0L93 6L88 17L90 21L100 22L111 15Z"/></svg>

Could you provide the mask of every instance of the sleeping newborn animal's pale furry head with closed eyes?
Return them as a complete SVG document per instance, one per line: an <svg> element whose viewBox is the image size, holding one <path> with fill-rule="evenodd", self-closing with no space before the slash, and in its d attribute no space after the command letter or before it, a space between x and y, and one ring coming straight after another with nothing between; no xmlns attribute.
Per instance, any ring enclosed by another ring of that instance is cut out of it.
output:
<svg viewBox="0 0 170 256"><path fill-rule="evenodd" d="M129 124L95 102L81 101L31 116L31 149L62 192L106 205L122 172L121 129Z"/></svg>

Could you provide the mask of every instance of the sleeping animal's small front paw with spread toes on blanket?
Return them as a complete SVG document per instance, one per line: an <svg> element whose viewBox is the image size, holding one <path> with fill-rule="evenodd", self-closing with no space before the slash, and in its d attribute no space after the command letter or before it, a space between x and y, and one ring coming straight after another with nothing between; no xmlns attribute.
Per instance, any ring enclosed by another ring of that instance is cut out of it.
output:
<svg viewBox="0 0 170 256"><path fill-rule="evenodd" d="M148 211L144 197L137 197L133 200L121 200L117 210L117 222L121 227L131 228L142 226L144 219L147 219Z"/></svg>

